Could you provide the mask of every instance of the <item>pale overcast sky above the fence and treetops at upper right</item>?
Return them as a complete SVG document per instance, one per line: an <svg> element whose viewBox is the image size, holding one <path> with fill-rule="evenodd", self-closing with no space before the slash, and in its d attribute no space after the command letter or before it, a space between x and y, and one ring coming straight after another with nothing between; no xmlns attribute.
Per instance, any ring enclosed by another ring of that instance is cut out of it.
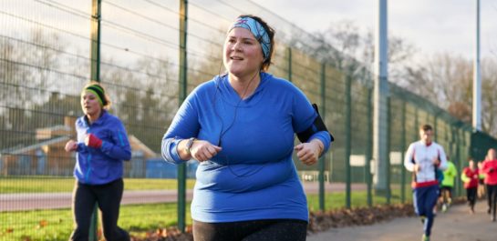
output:
<svg viewBox="0 0 497 241"><path fill-rule="evenodd" d="M253 0L308 32L352 20L374 29L378 0ZM476 0L388 1L388 32L415 45L421 55L449 52L472 58ZM481 56L497 57L497 1L481 0Z"/></svg>

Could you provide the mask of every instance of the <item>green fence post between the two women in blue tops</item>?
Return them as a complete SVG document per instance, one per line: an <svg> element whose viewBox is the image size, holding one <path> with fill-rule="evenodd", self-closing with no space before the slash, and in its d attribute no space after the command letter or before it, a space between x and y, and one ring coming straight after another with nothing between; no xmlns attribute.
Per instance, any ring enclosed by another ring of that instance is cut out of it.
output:
<svg viewBox="0 0 497 241"><path fill-rule="evenodd" d="M187 37L188 1L180 0L180 78L179 78L179 104L184 101L187 94ZM186 164L178 166L178 228L185 231L186 213Z"/></svg>

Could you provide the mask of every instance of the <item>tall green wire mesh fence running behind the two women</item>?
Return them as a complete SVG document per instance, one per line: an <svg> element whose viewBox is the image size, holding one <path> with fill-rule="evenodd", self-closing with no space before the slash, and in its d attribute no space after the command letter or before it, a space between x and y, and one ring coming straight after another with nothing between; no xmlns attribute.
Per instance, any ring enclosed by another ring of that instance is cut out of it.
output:
<svg viewBox="0 0 497 241"><path fill-rule="evenodd" d="M125 124L132 147L119 225L134 234L177 225L177 167L160 159L160 141L181 102L180 5L172 0L0 2L0 239L67 239L75 156L64 146L75 135L74 122L82 115L79 91L94 78L95 64L112 99L110 112ZM330 209L409 201L410 175L402 160L409 143L419 139L421 124L435 126L436 141L459 170L471 151L481 159L481 152L496 146L492 137L473 135L471 126L390 85L390 188L375 193L366 68L343 70L309 55L306 39L312 35L251 1L188 1L187 7L187 92L223 72L223 40L237 15L260 15L274 26L270 72L317 103L336 137L322 158L326 196L317 195L319 166L295 162L311 209L317 203ZM187 166L187 189L194 170L195 163ZM459 181L456 190L461 195Z"/></svg>

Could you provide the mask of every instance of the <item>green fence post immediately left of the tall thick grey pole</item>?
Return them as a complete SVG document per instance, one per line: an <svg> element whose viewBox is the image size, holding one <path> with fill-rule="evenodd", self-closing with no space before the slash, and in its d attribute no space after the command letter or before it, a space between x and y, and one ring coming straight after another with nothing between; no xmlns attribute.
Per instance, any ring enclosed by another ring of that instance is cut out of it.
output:
<svg viewBox="0 0 497 241"><path fill-rule="evenodd" d="M371 159L373 158L373 88L368 89L368 147L366 150L366 186L368 206L373 206Z"/></svg>

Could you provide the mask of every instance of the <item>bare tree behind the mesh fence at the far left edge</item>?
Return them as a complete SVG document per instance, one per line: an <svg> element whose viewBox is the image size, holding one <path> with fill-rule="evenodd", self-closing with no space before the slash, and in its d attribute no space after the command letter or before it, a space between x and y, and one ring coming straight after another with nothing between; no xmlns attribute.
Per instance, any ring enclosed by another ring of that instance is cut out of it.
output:
<svg viewBox="0 0 497 241"><path fill-rule="evenodd" d="M37 27L26 39L7 36L0 45L0 128L7 133L0 138L0 148L33 143L35 136L26 134L53 125L66 110L54 105L65 97L54 86L62 83L57 77L63 75L60 61L64 41Z"/></svg>

